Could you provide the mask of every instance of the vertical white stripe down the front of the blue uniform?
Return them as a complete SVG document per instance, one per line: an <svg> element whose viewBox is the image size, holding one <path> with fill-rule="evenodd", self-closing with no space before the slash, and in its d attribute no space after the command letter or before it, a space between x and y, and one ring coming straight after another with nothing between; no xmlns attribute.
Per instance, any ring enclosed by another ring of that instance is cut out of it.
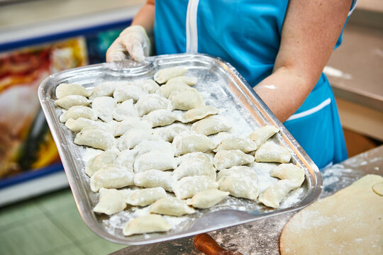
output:
<svg viewBox="0 0 383 255"><path fill-rule="evenodd" d="M187 53L198 52L198 31L196 24L198 4L199 0L189 0L189 4L187 4Z"/></svg>

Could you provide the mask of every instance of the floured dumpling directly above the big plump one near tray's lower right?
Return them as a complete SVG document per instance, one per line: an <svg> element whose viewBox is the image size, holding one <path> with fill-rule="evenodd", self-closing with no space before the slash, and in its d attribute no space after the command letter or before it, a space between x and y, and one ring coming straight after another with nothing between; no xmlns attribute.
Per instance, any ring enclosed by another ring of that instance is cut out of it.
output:
<svg viewBox="0 0 383 255"><path fill-rule="evenodd" d="M216 166L218 171L232 166L250 164L252 162L254 162L254 157L245 154L245 152L242 152L239 149L223 149L217 152L214 156L214 166Z"/></svg>

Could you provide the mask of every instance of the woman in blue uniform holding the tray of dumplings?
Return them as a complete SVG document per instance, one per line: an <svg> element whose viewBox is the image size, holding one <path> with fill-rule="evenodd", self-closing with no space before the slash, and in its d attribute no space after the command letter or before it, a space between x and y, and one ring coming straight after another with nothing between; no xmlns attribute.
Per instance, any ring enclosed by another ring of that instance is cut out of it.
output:
<svg viewBox="0 0 383 255"><path fill-rule="evenodd" d="M347 158L335 98L322 71L340 44L351 6L353 0L148 0L106 60L128 54L142 61L154 50L221 57L323 169Z"/></svg>

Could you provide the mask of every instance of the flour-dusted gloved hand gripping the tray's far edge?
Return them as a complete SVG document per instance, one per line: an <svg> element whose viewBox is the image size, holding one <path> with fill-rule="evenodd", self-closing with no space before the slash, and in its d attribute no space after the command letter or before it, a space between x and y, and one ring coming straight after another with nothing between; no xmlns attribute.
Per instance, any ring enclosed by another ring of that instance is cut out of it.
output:
<svg viewBox="0 0 383 255"><path fill-rule="evenodd" d="M150 40L145 28L130 26L121 32L106 51L106 62L127 60L130 57L140 62L148 57L150 51Z"/></svg>

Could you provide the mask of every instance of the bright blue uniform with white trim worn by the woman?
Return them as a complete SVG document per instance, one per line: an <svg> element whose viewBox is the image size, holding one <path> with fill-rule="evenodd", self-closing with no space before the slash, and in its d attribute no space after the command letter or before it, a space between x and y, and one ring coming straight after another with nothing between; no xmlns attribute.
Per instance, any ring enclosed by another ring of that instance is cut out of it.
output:
<svg viewBox="0 0 383 255"><path fill-rule="evenodd" d="M156 0L155 50L158 55L200 52L221 57L255 86L272 74L287 4L287 0ZM335 98L324 74L284 125L319 169L347 158Z"/></svg>

